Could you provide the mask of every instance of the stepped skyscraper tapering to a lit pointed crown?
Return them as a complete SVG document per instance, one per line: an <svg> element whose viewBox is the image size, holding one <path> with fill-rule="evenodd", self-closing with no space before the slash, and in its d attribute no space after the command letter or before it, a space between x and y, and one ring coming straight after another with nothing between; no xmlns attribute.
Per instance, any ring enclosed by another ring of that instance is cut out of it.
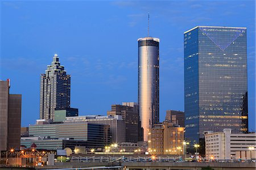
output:
<svg viewBox="0 0 256 170"><path fill-rule="evenodd" d="M53 120L55 109L70 107L71 76L60 65L59 56L54 55L51 65L40 80L40 119Z"/></svg>

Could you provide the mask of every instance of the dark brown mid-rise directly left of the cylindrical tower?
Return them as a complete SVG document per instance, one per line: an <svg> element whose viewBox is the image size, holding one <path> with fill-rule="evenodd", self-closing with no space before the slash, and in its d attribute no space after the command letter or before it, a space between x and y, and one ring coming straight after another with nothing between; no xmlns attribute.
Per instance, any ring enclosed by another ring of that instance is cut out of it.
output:
<svg viewBox="0 0 256 170"><path fill-rule="evenodd" d="M125 103L128 104L128 103ZM107 112L108 115L121 115L125 120L125 142L138 142L139 141L139 113L138 105L124 106L112 105L111 111Z"/></svg>

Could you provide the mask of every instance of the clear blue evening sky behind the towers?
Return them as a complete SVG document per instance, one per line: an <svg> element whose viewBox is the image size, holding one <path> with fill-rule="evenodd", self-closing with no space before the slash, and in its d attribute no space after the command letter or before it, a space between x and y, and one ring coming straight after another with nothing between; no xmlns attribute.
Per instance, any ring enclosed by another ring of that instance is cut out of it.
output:
<svg viewBox="0 0 256 170"><path fill-rule="evenodd" d="M40 73L57 53L71 74L71 106L105 115L137 102L138 43L160 38L160 121L184 110L183 32L247 27L249 128L255 130L254 1L1 1L0 79L22 94L22 126L39 118Z"/></svg>

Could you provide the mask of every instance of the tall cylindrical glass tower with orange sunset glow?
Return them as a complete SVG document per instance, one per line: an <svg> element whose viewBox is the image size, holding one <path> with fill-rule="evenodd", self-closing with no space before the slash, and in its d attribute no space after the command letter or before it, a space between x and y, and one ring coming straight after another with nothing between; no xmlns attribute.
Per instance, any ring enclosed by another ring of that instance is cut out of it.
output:
<svg viewBox="0 0 256 170"><path fill-rule="evenodd" d="M159 123L159 39L138 39L138 102L143 140L148 130Z"/></svg>

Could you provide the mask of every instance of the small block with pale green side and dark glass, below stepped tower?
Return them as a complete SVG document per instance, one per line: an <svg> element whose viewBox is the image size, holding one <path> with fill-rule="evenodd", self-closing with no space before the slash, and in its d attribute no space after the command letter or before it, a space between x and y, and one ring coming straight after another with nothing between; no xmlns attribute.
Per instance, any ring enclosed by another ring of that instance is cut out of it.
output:
<svg viewBox="0 0 256 170"><path fill-rule="evenodd" d="M77 117L78 115L78 109L75 108L55 109L54 122L63 122L66 117Z"/></svg>

